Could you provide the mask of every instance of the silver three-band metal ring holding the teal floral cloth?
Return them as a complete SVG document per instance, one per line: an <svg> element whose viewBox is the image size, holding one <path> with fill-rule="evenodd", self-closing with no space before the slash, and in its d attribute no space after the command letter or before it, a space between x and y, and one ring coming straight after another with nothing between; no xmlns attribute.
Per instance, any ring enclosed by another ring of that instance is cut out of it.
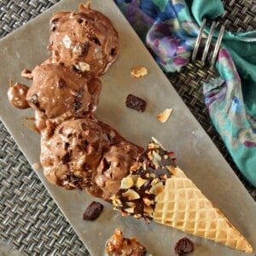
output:
<svg viewBox="0 0 256 256"><path fill-rule="evenodd" d="M201 28L200 28L200 31L199 31L198 36L196 38L196 41L195 41L195 48L194 48L193 53L192 53L192 63L195 63L195 61L197 59L197 55L198 55L198 50L200 48L201 39L202 38L207 38L207 42L205 44L205 48L204 48L202 56L201 56L201 65L202 66L205 66L205 64L206 64L207 55L209 54L210 45L212 43L213 32L219 25L218 22L213 21L212 26L210 28L210 32L209 32L208 35L206 35L204 33L204 28L205 28L206 24L207 24L207 19L202 20ZM212 58L211 58L211 61L210 61L210 65L211 65L210 68L213 68L214 65L215 65L215 62L216 62L216 59L217 59L217 56L218 56L218 50L220 48L220 44L221 44L222 38L224 36L224 30L225 30L224 26L223 25L220 26L220 29L219 29L219 32L218 32L218 38L217 38L217 41L215 43L213 53L212 53Z"/></svg>

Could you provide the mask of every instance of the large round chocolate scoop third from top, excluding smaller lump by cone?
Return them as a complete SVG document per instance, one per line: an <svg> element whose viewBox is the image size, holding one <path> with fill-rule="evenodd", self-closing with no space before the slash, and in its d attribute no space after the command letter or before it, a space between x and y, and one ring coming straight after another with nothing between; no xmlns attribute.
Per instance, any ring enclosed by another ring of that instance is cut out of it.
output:
<svg viewBox="0 0 256 256"><path fill-rule="evenodd" d="M42 133L40 160L45 177L66 189L90 187L111 137L92 119L64 121L50 138Z"/></svg>

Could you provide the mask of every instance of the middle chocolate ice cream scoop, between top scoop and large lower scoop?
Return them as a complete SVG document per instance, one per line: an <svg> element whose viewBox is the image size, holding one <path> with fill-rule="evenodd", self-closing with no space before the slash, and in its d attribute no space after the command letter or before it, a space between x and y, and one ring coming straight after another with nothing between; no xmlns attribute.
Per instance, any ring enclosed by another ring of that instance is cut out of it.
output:
<svg viewBox="0 0 256 256"><path fill-rule="evenodd" d="M100 79L54 63L35 67L32 79L26 100L40 119L78 116L96 109Z"/></svg>

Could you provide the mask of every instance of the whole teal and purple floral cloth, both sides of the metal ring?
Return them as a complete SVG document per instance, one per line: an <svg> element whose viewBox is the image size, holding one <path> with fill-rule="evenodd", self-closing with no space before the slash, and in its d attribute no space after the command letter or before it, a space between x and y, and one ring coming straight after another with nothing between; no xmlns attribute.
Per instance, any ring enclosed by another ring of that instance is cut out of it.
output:
<svg viewBox="0 0 256 256"><path fill-rule="evenodd" d="M165 72L187 65L201 21L224 13L220 0L114 1ZM256 31L225 32L216 69L218 78L203 84L205 103L236 166L256 187Z"/></svg>

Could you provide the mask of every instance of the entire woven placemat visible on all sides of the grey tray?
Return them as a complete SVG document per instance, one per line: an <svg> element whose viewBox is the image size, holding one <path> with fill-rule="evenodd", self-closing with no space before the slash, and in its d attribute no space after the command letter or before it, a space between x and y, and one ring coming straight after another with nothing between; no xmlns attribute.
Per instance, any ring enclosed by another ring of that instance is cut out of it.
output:
<svg viewBox="0 0 256 256"><path fill-rule="evenodd" d="M57 2L59 0L0 0L0 38ZM230 31L256 28L253 1L226 0L224 5L226 14L219 21ZM167 76L256 201L256 190L240 176L224 143L212 127L203 102L201 83L214 77L215 73L195 63L184 67L182 73ZM25 255L89 255L1 121L0 240Z"/></svg>

